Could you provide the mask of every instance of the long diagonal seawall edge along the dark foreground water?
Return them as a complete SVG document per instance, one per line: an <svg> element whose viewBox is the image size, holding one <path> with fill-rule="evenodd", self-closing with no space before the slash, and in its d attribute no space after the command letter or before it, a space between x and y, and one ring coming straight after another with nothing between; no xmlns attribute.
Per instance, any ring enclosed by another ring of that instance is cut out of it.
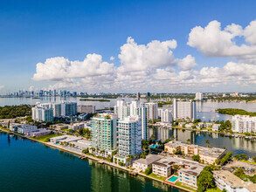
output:
<svg viewBox="0 0 256 192"><path fill-rule="evenodd" d="M79 159L81 159L81 160L87 158L87 159L96 161L96 162L98 162L98 163L100 163L100 164L106 164L106 165L112 166L112 167L114 167L114 168L120 168L120 169L123 170L123 171L127 171L128 174L132 171L131 169L128 169L128 168L125 168L125 167L121 167L121 166L119 166L119 165L117 165L117 164L114 164L113 162L109 162L109 161L106 161L106 160L101 160L101 159L99 159L99 158L97 158L97 157L94 157L94 156L92 156L92 155L88 155L88 154L83 154L83 153L75 152L75 151L69 150L68 148L65 148L65 147L59 147L59 146L56 146L56 145L54 145L54 144L52 144L52 143L50 143L50 142L38 141L38 140L32 139L32 138L30 138L30 137L25 137L25 136L23 136L23 135L13 133L13 132L11 132L11 131L10 131L10 132L5 131L5 130L3 130L3 129L0 129L0 132L6 133L6 134L15 134L15 135L17 135L17 136L19 136L19 137L22 137L22 138L24 138L24 139L28 139L28 140L31 140L31 141L37 141L37 142L42 143L42 144L44 144L44 145L46 145L46 146L48 146L48 147L53 147L53 148L56 148L56 149L59 149L59 150L62 150L62 151L66 151L67 153L70 153L70 154L76 154L76 155L79 156ZM164 182L164 181L162 181L162 180L158 180L158 179L156 179L156 178L154 178L154 177L151 177L151 176L149 176L149 175L144 175L144 174L142 174L142 173L137 173L137 175L144 176L144 177L146 177L146 178L148 178L148 179L151 179L151 180L154 180L154 181L156 181L156 182L162 182L163 184L168 185L170 188L182 189L182 190L184 190L184 191L193 192L192 190L184 189L184 188L182 188L182 187L179 187L179 186L176 186L176 185L172 185L172 184L170 184L170 183Z"/></svg>

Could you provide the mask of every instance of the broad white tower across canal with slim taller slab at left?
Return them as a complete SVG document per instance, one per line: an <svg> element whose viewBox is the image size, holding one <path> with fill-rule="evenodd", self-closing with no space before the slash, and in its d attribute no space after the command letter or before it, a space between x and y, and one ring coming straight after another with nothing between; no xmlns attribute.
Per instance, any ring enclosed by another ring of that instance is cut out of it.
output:
<svg viewBox="0 0 256 192"><path fill-rule="evenodd" d="M194 101L177 101L173 99L173 119L196 119L196 102Z"/></svg>

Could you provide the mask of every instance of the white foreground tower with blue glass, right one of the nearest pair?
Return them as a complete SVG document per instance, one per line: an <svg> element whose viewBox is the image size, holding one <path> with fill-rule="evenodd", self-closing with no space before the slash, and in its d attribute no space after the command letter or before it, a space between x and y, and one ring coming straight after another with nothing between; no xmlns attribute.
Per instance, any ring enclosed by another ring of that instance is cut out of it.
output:
<svg viewBox="0 0 256 192"><path fill-rule="evenodd" d="M118 129L118 153L129 154L142 153L142 120L140 116L125 117L117 121Z"/></svg>

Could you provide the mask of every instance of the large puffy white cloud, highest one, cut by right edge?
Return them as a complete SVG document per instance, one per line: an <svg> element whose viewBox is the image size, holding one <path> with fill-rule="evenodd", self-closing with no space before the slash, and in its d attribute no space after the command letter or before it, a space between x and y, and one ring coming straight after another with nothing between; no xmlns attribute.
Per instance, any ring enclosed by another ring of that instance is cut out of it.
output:
<svg viewBox="0 0 256 192"><path fill-rule="evenodd" d="M255 21L243 30L239 24L227 25L224 30L218 21L211 21L207 26L196 26L190 31L188 45L197 48L210 57L230 57L256 62ZM246 38L252 45L237 45L236 38Z"/></svg>

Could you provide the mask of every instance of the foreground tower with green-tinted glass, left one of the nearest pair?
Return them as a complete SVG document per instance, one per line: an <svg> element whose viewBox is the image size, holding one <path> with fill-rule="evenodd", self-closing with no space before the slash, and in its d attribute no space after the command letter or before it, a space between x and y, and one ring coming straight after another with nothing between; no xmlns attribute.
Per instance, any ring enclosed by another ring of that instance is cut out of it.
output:
<svg viewBox="0 0 256 192"><path fill-rule="evenodd" d="M111 151L117 147L117 116L100 113L92 119L92 147Z"/></svg>

